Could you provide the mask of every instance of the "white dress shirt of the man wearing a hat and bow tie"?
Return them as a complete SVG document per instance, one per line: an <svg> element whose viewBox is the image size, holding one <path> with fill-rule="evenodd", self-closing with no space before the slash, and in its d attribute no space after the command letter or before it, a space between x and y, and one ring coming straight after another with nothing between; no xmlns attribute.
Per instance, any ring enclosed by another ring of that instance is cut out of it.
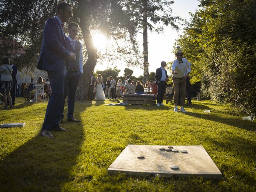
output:
<svg viewBox="0 0 256 192"><path fill-rule="evenodd" d="M182 61L174 60L171 70L175 70L178 74L172 74L174 77L182 78L189 72L191 72L190 62L187 59L182 58Z"/></svg>

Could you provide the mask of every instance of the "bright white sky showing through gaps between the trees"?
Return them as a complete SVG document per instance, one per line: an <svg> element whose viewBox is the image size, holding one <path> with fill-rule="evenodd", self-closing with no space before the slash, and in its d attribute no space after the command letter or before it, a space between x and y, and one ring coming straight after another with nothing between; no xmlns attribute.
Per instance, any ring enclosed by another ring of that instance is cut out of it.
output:
<svg viewBox="0 0 256 192"><path fill-rule="evenodd" d="M173 16L180 16L181 18L186 18L188 21L190 20L189 12L194 13L199 9L198 0L174 0L174 4L172 4L172 12ZM149 62L149 73L156 72L156 68L161 66L161 62L173 62L175 59L174 54L172 53L172 48L174 46L175 39L182 34L182 27L180 26L180 30L177 32L172 29L170 26L164 28L164 32L157 34L156 32L150 32L148 30L148 62ZM142 34L138 34L138 39L140 39L140 50L143 52L142 46ZM109 65L108 65L109 66ZM142 63L143 66L143 63ZM97 70L105 70L107 68L107 64L97 64L95 67L95 72ZM120 69L119 76L124 75L124 68L128 68L124 63L120 62L120 65L117 66ZM137 67L129 67L134 71L133 76L143 75L143 69Z"/></svg>

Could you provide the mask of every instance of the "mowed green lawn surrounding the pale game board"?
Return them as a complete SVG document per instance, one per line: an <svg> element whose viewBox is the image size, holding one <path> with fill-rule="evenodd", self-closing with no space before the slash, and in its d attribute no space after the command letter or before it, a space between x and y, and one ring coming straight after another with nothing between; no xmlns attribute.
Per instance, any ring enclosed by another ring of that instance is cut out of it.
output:
<svg viewBox="0 0 256 192"><path fill-rule="evenodd" d="M20 102L19 102L20 101ZM210 101L193 101L187 113L173 104L105 106L114 102L76 102L70 132L38 135L47 102L0 110L0 191L256 191L256 122L228 114ZM165 103L165 102L164 102ZM204 110L211 110L206 114ZM65 114L66 114L65 108ZM107 169L128 144L202 145L223 174L221 180L108 175Z"/></svg>

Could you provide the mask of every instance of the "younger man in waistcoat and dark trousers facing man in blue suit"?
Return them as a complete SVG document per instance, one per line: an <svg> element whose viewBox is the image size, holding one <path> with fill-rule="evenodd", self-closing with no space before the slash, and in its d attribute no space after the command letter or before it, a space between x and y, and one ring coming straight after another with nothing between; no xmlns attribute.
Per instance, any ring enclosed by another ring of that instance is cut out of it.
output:
<svg viewBox="0 0 256 192"><path fill-rule="evenodd" d="M64 97L62 100L62 112L60 114L60 122L62 122L64 115L64 106L66 101L66 96L68 95L68 118L67 121L70 122L80 122L73 117L75 108L75 95L78 82L81 74L83 73L83 53L82 44L76 40L78 33L78 25L76 23L68 24L68 37L66 38L66 45L69 51L76 53L75 60L67 60L67 69L65 80L64 80Z"/></svg>

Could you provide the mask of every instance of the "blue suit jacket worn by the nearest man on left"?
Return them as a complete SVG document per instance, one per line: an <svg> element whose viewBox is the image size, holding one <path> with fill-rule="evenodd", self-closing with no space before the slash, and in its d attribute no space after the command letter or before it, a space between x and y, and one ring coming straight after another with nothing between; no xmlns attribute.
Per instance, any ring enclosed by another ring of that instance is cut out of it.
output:
<svg viewBox="0 0 256 192"><path fill-rule="evenodd" d="M43 31L42 47L37 68L45 71L62 71L70 52L66 49L66 36L56 17L49 18Z"/></svg>

